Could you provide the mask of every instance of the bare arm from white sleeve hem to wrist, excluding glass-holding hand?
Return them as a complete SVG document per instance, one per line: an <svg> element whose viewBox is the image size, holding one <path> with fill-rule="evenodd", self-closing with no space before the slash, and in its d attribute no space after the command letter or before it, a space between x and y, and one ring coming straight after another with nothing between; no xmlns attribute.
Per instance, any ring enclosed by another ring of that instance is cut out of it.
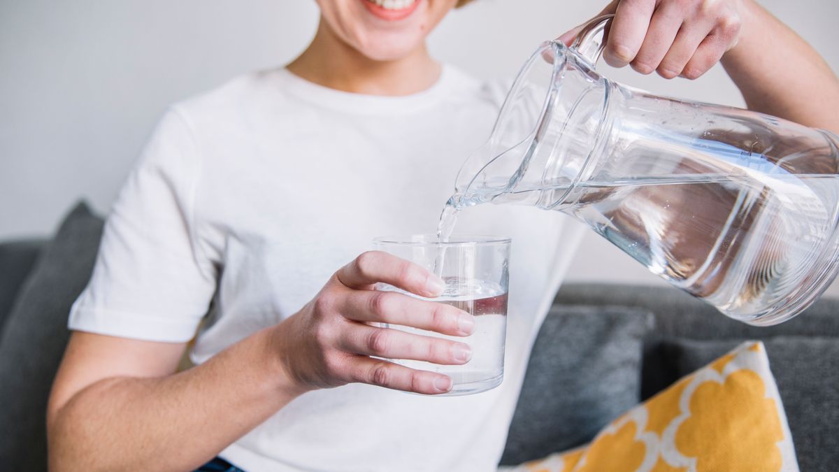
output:
<svg viewBox="0 0 839 472"><path fill-rule="evenodd" d="M50 470L201 466L300 394L268 338L174 374L184 344L73 333L50 396Z"/></svg>

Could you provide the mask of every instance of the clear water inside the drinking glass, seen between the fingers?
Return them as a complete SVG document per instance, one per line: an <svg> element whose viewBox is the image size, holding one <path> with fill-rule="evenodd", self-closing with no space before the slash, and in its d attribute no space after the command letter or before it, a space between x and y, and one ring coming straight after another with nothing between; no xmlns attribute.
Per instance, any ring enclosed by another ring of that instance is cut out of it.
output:
<svg viewBox="0 0 839 472"><path fill-rule="evenodd" d="M390 289L399 291L393 287ZM418 297L413 294L408 295ZM452 390L446 394L449 396L468 395L500 384L504 372L504 337L507 333L507 292L503 291L498 283L492 281L460 281L447 278L446 291L441 296L423 299L446 303L471 313L475 317L475 330L470 336L462 338L407 326L388 325L387 327L469 344L472 347L472 359L462 365L440 365L406 359L392 361L411 369L430 370L449 375L453 384Z"/></svg>

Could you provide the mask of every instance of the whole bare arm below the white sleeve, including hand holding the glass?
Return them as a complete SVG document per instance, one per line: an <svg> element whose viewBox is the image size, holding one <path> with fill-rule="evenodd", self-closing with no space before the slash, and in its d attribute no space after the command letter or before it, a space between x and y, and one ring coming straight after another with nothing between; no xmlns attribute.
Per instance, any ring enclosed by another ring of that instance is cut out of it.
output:
<svg viewBox="0 0 839 472"><path fill-rule="evenodd" d="M446 375L388 359L464 364L467 344L367 323L472 333L472 315L395 292L437 296L442 281L418 265L365 253L338 270L300 312L175 374L184 344L74 333L47 415L50 469L195 469L296 396L365 382L424 394L451 389Z"/></svg>

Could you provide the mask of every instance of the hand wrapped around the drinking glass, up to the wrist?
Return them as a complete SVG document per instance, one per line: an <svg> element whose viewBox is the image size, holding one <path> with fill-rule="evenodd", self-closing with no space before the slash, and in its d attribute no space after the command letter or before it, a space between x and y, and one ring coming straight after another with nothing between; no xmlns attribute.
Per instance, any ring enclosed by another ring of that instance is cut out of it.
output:
<svg viewBox="0 0 839 472"><path fill-rule="evenodd" d="M370 356L466 364L472 357L468 344L378 328L372 323L468 336L475 326L474 317L443 303L373 290L377 282L426 297L439 296L444 288L443 281L428 270L383 252L361 254L342 267L314 300L273 328L283 369L300 391L350 382L425 394L451 390L447 375Z"/></svg>

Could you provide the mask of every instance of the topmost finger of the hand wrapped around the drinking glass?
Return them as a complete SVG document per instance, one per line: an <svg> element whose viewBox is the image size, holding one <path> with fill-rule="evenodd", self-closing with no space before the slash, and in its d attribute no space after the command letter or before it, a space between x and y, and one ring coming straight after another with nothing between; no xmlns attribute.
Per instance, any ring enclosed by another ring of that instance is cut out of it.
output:
<svg viewBox="0 0 839 472"><path fill-rule="evenodd" d="M338 281L352 289L370 290L383 282L420 296L438 296L446 288L440 277L408 260L382 251L368 251L336 272Z"/></svg>

